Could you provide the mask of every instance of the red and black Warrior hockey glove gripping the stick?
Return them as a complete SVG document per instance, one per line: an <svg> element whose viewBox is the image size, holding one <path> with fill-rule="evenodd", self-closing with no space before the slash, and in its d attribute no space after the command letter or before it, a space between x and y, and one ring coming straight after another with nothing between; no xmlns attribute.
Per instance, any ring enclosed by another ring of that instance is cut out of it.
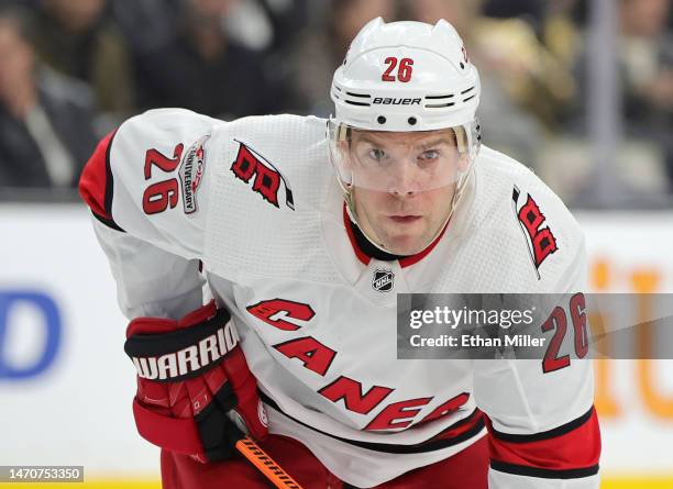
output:
<svg viewBox="0 0 673 489"><path fill-rule="evenodd" d="M148 442L214 462L232 455L244 431L266 437L257 382L229 311L214 301L179 321L134 319L124 351L139 373L135 424Z"/></svg>

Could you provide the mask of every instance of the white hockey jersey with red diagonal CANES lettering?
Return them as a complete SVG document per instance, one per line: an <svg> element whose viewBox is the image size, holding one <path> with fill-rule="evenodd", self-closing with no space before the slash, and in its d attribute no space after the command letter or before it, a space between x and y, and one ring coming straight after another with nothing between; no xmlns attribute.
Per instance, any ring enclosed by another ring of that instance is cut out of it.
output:
<svg viewBox="0 0 673 489"><path fill-rule="evenodd" d="M545 374L541 360L397 359L397 293L583 290L582 232L519 163L483 146L442 235L393 262L358 247L316 118L150 111L100 143L80 191L123 312L179 318L206 277L269 431L342 480L390 480L487 424L490 487L598 487L591 362ZM382 273L388 286L373 287Z"/></svg>

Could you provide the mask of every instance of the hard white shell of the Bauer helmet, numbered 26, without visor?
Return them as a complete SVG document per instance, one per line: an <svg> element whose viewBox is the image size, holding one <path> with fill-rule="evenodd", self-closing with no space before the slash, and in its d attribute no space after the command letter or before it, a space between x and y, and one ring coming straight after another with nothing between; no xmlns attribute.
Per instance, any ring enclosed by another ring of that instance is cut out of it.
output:
<svg viewBox="0 0 673 489"><path fill-rule="evenodd" d="M475 121L481 86L463 41L435 25L377 18L355 36L334 73L335 121L374 131L431 131Z"/></svg>

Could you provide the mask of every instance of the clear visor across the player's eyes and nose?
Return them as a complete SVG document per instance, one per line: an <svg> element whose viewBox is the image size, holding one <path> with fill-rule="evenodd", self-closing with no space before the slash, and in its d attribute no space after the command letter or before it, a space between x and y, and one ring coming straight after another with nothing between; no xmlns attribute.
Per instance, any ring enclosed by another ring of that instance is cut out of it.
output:
<svg viewBox="0 0 673 489"><path fill-rule="evenodd" d="M448 187L467 173L472 126L384 132L329 122L330 157L346 187L407 195Z"/></svg>

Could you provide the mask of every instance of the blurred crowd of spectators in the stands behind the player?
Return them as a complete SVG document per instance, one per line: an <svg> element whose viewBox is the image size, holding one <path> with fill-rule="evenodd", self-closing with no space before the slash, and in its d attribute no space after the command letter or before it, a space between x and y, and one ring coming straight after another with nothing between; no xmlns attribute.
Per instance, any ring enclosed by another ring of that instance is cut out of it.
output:
<svg viewBox="0 0 673 489"><path fill-rule="evenodd" d="M380 15L449 20L482 76L484 142L583 204L596 178L596 1L0 0L0 199L70 195L98 138L151 108L328 116L334 68ZM615 4L616 192L632 197L627 205L671 205L670 0Z"/></svg>

